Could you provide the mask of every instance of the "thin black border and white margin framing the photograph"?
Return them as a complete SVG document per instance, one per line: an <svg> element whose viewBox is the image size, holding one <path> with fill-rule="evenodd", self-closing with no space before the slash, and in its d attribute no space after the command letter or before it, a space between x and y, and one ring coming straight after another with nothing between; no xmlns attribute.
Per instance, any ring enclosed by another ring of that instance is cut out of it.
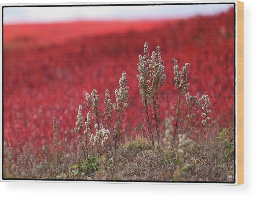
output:
<svg viewBox="0 0 256 198"><path fill-rule="evenodd" d="M146 181L146 180L86 180L86 179L28 179L4 178L4 8L17 7L109 7L109 6L168 6L168 5L234 5L234 181ZM138 4L55 4L55 5L8 5L2 6L2 181L74 181L74 182L119 182L119 183L195 183L195 184L235 184L236 183L236 3L235 2L197 2L197 3L138 3Z"/></svg>

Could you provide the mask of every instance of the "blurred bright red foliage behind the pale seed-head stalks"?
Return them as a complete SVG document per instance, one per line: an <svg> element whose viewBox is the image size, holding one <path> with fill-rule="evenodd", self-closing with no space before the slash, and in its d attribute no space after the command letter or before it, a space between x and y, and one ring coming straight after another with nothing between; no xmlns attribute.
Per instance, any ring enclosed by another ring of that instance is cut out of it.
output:
<svg viewBox="0 0 256 198"><path fill-rule="evenodd" d="M53 140L56 117L60 138L71 144L85 93L97 89L103 111L105 90L114 102L122 71L127 72L129 86L123 127L126 134L133 133L135 123L145 117L136 78L145 41L150 52L160 46L166 66L159 96L162 119L173 115L177 98L175 58L180 68L190 63L190 96L209 95L213 126L216 122L232 125L234 11L230 10L172 21L4 25L4 140L9 145L28 142L40 150Z"/></svg>

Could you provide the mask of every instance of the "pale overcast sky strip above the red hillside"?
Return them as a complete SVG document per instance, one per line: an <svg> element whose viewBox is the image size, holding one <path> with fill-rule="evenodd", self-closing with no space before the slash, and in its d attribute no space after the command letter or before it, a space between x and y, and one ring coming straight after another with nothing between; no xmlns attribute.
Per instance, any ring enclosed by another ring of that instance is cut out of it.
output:
<svg viewBox="0 0 256 198"><path fill-rule="evenodd" d="M100 6L100 7L10 7L4 8L4 24L52 23L77 20L174 19L193 15L215 15L233 4Z"/></svg>

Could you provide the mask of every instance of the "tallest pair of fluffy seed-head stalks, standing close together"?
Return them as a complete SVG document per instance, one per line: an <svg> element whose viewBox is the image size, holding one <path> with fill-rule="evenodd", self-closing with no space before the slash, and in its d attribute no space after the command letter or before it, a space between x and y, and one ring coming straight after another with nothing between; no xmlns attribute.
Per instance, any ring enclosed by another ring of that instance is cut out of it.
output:
<svg viewBox="0 0 256 198"><path fill-rule="evenodd" d="M144 44L144 56L139 56L139 64L138 70L140 75L137 75L139 80L139 89L142 97L142 102L145 107L147 128L149 131L150 138L152 140L152 144L154 146L154 136L152 133L152 126L149 117L150 104L152 104L153 108L153 120L156 127L156 136L158 140L158 145L160 146L160 131L159 131L159 123L160 123L160 106L157 104L160 99L158 98L158 94L160 92L160 88L164 85L165 75L164 70L165 67L163 65L161 59L160 47L156 47L156 52L152 52L151 60L149 59L149 50L148 43Z"/></svg>

